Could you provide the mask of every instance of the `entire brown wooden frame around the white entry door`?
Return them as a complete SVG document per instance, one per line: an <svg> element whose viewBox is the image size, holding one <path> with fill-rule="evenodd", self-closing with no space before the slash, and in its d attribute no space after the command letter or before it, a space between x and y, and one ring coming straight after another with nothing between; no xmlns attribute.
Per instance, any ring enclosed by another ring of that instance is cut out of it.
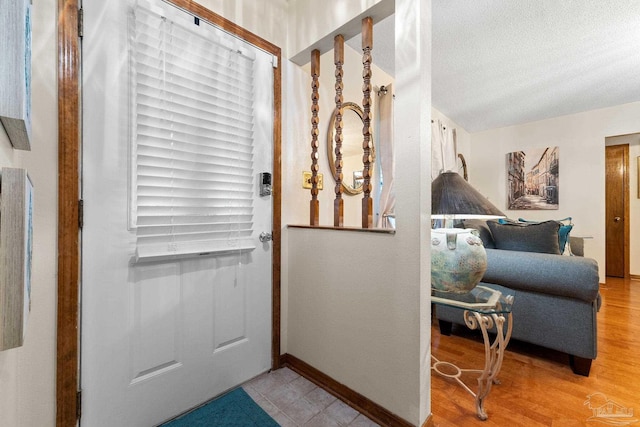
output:
<svg viewBox="0 0 640 427"><path fill-rule="evenodd" d="M273 260L271 367L280 367L280 262L282 215L281 50L192 0L177 7L274 55L273 69ZM80 0L58 0L58 301L56 343L56 426L77 425L80 413Z"/></svg>

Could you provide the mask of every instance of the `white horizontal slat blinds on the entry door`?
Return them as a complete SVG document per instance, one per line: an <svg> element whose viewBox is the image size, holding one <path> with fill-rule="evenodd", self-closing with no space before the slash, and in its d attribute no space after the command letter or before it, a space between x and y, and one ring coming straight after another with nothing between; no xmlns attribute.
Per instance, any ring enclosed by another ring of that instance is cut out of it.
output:
<svg viewBox="0 0 640 427"><path fill-rule="evenodd" d="M202 32L134 10L138 260L254 248L253 59Z"/></svg>

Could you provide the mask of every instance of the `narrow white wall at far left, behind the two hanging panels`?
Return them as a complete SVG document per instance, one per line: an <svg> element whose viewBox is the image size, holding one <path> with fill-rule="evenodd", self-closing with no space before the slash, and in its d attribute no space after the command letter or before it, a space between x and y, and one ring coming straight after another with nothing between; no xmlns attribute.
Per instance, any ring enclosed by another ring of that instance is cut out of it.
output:
<svg viewBox="0 0 640 427"><path fill-rule="evenodd" d="M0 425L55 425L57 263L57 2L32 9L31 151L13 151L0 127L0 166L25 168L34 186L31 313L22 347L0 352ZM0 29L0 33L4 29Z"/></svg>

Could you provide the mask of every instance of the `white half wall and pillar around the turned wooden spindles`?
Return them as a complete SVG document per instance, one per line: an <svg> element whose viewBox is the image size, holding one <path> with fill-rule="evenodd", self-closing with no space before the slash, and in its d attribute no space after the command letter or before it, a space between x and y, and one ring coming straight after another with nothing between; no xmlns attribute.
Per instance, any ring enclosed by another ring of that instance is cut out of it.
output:
<svg viewBox="0 0 640 427"><path fill-rule="evenodd" d="M345 3L334 0L323 2L322 7L335 10ZM349 2L352 4L355 2ZM428 117L431 108L431 78L424 72L430 69L431 2L396 0L395 7L398 230L395 235L284 230L288 247L287 265L283 265L288 292L286 351L420 424L430 412L430 258L426 246L430 128L428 120L420 117ZM305 11L309 14L301 22L313 17L313 25L301 28L322 37L331 32L327 28L333 22L322 14L314 15L316 9L317 2L297 2L298 16ZM289 136L283 162L296 182L285 183L283 189L283 212L287 212L283 223L286 215L293 223L308 224L310 196L299 189L298 180L310 165L310 84L301 69L292 74L302 86L292 88L287 99L293 120L285 125ZM321 122L321 126L325 125ZM329 183L325 175L325 192Z"/></svg>

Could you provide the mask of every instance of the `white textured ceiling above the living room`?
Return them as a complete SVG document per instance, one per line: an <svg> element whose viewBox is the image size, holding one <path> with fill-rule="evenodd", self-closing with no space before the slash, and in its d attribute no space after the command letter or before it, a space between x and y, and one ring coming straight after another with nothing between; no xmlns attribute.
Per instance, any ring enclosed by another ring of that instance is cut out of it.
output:
<svg viewBox="0 0 640 427"><path fill-rule="evenodd" d="M640 101L640 0L432 8L432 104L469 132ZM393 16L376 24L373 49L391 75L393 27Z"/></svg>

